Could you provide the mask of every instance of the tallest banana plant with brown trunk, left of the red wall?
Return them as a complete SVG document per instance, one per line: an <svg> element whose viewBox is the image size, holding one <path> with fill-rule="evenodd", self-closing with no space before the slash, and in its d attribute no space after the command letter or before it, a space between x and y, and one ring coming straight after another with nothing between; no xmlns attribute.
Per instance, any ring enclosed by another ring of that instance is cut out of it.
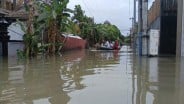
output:
<svg viewBox="0 0 184 104"><path fill-rule="evenodd" d="M68 21L69 12L72 10L67 8L69 0L52 0L50 3L37 2L38 17L37 23L44 25L44 30L47 31L48 53L56 51L56 36L60 31L65 29Z"/></svg>

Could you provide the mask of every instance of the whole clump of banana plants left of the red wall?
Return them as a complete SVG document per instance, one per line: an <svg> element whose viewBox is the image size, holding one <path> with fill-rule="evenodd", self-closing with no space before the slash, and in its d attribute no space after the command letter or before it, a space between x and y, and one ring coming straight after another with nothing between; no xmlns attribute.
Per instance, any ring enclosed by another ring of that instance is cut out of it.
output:
<svg viewBox="0 0 184 104"><path fill-rule="evenodd" d="M47 43L42 44L40 47L38 47L38 43L42 41L42 37L50 36L49 38L52 38L52 36L58 35L59 31L66 30L65 28L68 26L68 17L70 16L69 12L72 11L66 8L68 2L69 0L52 0L50 4L47 4L45 2L35 0L33 1L32 6L25 5L25 9L29 13L31 13L30 11L33 10L31 8L36 10L36 16L35 14L32 14L32 16L29 14L29 16L32 18L29 18L28 24L17 21L20 24L21 29L25 32L23 40L25 43L24 53L26 56L36 55L38 52L46 52L46 49L50 46L61 46L53 39L50 39L51 41L47 41ZM52 25L56 26L54 27ZM31 31L29 29L30 26ZM50 32L46 32L49 31L48 29ZM44 32L48 34L43 34Z"/></svg>

